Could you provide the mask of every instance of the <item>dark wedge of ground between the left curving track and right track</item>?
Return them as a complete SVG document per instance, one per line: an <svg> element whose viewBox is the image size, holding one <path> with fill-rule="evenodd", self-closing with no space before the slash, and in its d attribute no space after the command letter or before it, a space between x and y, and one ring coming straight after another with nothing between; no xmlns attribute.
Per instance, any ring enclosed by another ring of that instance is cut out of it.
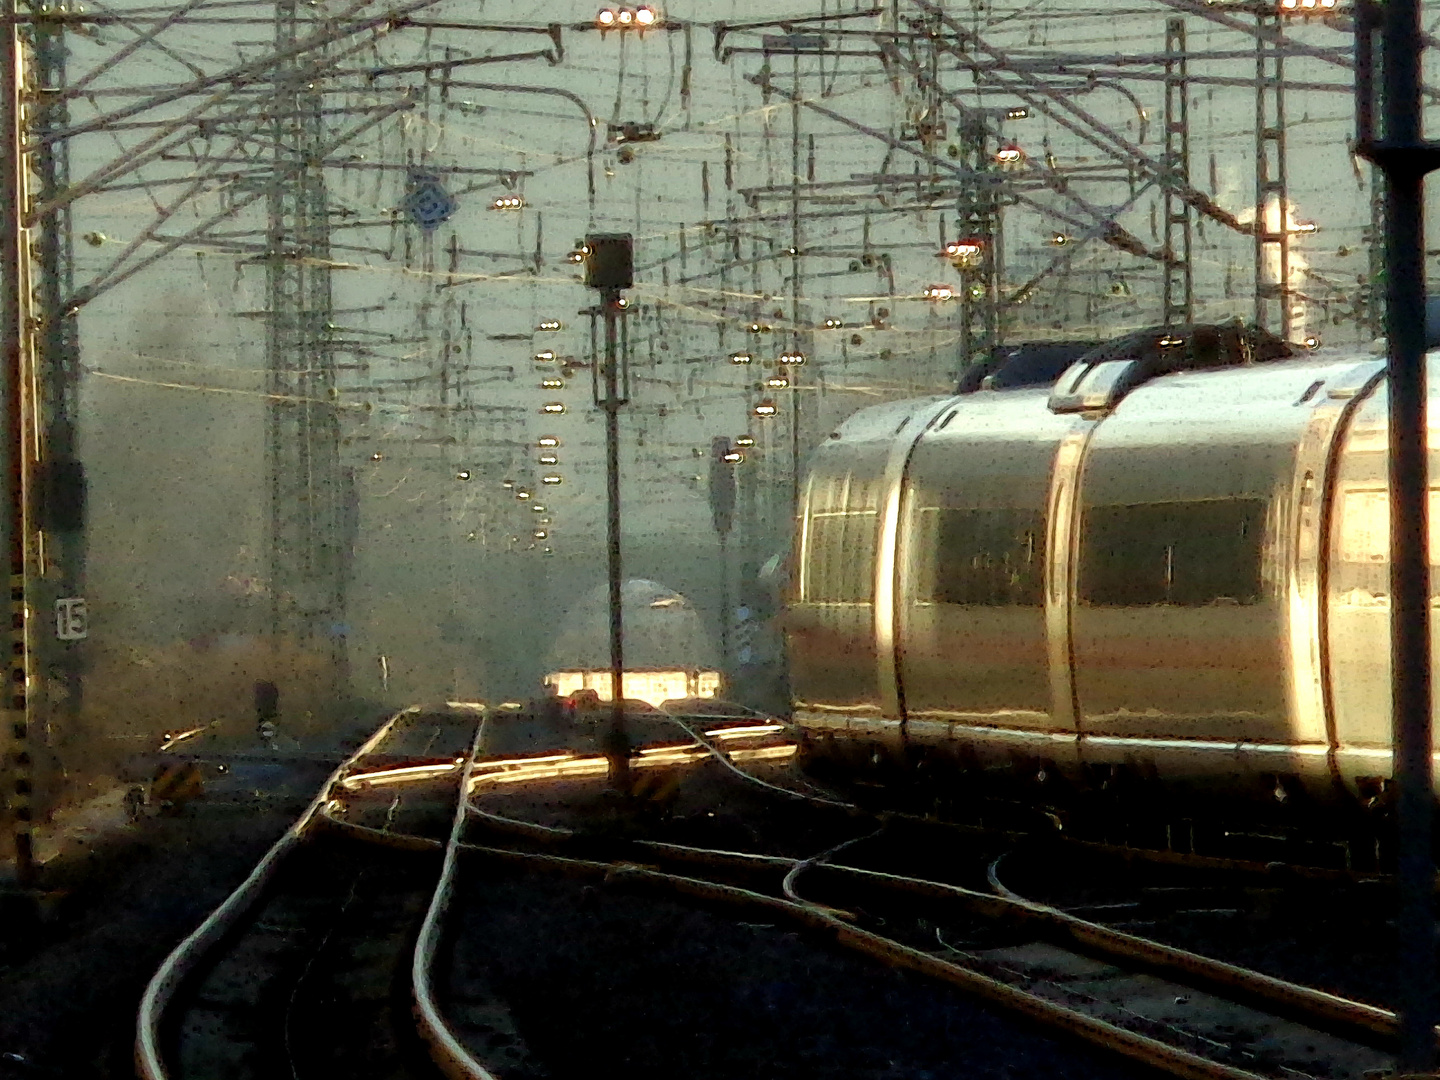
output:
<svg viewBox="0 0 1440 1080"><path fill-rule="evenodd" d="M618 886L467 860L451 924L448 995L504 999L517 1080L1151 1076L785 926Z"/></svg>

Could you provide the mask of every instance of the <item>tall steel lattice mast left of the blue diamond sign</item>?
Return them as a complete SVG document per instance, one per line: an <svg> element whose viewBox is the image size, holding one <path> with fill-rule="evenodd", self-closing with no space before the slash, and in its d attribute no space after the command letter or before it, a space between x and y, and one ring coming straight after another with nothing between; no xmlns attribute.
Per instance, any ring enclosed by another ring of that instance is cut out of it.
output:
<svg viewBox="0 0 1440 1080"><path fill-rule="evenodd" d="M279 0L275 50L287 56L315 29L315 9ZM330 206L324 177L323 92L291 55L274 72L266 193L268 334L265 435L271 495L271 632L327 654L334 690L346 672L347 477L331 343Z"/></svg>

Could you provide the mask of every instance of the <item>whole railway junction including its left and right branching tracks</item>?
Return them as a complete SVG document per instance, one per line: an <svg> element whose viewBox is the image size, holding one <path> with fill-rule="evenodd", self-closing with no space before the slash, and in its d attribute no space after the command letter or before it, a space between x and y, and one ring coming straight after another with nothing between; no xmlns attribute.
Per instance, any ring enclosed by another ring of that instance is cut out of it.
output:
<svg viewBox="0 0 1440 1080"><path fill-rule="evenodd" d="M793 744L778 724L714 721L691 729L694 742L641 746L632 775L649 798L631 801L608 793L599 755L507 756L504 740L485 747L472 729L477 742L461 746L464 724L448 726L445 737L420 724L377 733L295 842L266 857L266 881L251 888L262 896L230 904L167 960L141 1011L145 1080L217 1076L216 1060L255 1063L225 1076L354 1071L353 1060L372 1076L544 1076L484 958L448 955L464 867L480 864L789 926L1175 1076L1362 1080L1391 1066L1385 1009L1034 903L1008 893L992 857L994 891L904 873L904 824L877 829L842 801L789 786L776 766ZM716 814L756 799L785 835L717 847Z"/></svg>

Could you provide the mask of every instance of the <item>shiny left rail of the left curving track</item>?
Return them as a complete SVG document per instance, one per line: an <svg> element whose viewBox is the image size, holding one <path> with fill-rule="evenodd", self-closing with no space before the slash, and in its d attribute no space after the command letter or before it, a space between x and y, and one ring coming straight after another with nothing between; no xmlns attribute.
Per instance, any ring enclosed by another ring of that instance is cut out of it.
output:
<svg viewBox="0 0 1440 1080"><path fill-rule="evenodd" d="M265 852L265 857L255 865L249 877L219 907L210 912L204 922L192 930L180 945L170 950L170 955L166 956L158 971L145 984L145 992L140 999L140 1011L135 1017L135 1073L140 1076L140 1080L170 1080L170 1073L166 1070L160 1053L160 1021L180 984L184 982L186 976L196 969L204 955L259 900L265 887L274 880L285 855L301 842L305 831L312 825L325 804L330 802L331 792L350 769L384 742L402 717L413 716L419 711L418 706L412 706L410 708L400 710L380 724L359 750L330 773L330 779L321 786L320 793L295 822L285 829L285 834L275 841L269 851Z"/></svg>

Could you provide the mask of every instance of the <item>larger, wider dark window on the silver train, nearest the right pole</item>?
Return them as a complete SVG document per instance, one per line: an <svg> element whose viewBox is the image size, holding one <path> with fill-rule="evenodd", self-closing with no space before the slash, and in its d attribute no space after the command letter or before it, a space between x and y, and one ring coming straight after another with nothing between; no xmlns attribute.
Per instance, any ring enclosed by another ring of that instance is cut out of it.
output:
<svg viewBox="0 0 1440 1080"><path fill-rule="evenodd" d="M1089 507L1080 599L1120 608L1254 603L1264 523L1261 498Z"/></svg>

